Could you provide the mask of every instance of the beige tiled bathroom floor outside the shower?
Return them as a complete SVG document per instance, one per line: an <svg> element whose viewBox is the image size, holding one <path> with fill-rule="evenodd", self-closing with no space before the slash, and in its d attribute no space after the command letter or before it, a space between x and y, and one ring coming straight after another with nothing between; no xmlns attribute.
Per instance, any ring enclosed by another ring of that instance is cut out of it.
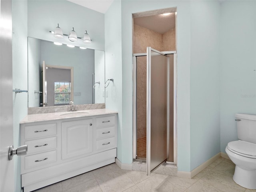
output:
<svg viewBox="0 0 256 192"><path fill-rule="evenodd" d="M236 184L235 165L218 158L194 178L121 170L115 163L34 192L256 192Z"/></svg>

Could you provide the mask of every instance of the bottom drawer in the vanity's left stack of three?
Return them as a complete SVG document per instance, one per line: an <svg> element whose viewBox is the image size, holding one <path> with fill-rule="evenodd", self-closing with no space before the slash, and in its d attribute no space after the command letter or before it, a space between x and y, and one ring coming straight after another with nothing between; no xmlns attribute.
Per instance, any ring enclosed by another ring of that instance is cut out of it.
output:
<svg viewBox="0 0 256 192"><path fill-rule="evenodd" d="M25 156L25 169L40 167L57 161L57 151Z"/></svg>

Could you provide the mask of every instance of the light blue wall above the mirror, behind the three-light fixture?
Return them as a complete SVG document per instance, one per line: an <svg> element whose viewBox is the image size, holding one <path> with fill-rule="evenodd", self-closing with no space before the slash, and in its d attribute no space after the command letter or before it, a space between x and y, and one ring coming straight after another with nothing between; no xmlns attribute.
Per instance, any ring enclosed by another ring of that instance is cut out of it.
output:
<svg viewBox="0 0 256 192"><path fill-rule="evenodd" d="M74 27L77 36L83 38L87 30L93 43L70 42L67 37L54 38L49 31L54 31L58 23L64 34L69 34ZM28 36L104 50L104 14L66 0L29 0Z"/></svg>

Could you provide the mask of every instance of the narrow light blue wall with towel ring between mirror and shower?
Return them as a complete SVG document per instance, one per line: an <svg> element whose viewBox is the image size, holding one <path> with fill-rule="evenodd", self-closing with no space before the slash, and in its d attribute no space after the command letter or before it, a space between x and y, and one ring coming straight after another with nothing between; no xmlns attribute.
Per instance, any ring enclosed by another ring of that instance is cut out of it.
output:
<svg viewBox="0 0 256 192"><path fill-rule="evenodd" d="M132 156L126 148L123 148L127 145L132 147L132 143L125 143L126 137L131 137L131 135L125 135L122 130L122 90L124 86L122 85L121 1L114 1L105 14L105 54L106 80L114 79L114 83L110 82L105 90L108 92L106 108L118 112L117 158L122 163L131 163Z"/></svg>

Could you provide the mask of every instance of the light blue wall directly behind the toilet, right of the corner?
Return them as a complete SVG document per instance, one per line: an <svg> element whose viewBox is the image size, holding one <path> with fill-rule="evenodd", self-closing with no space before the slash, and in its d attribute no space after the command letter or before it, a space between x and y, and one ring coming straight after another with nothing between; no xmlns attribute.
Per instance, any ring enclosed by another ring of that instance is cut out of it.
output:
<svg viewBox="0 0 256 192"><path fill-rule="evenodd" d="M256 114L256 1L221 5L220 149L237 140L236 113Z"/></svg>

